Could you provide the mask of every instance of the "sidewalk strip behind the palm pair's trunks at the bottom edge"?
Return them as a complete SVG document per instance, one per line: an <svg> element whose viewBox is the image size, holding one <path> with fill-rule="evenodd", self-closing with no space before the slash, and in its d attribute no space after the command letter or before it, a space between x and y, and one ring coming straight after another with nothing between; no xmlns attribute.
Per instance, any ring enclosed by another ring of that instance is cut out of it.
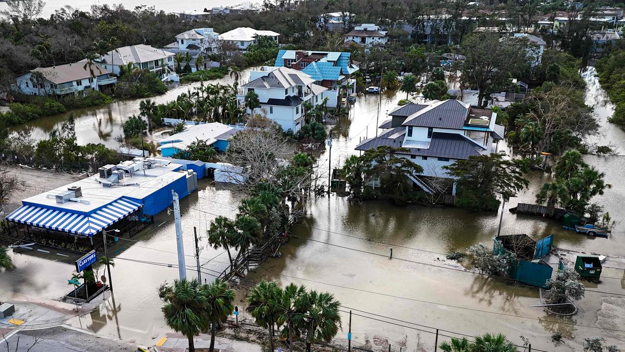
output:
<svg viewBox="0 0 625 352"><path fill-rule="evenodd" d="M156 348L158 348L159 352L184 352L189 347L189 341L181 335L178 336L179 337L161 339L161 341L156 344ZM194 339L194 342L196 350L197 348L206 348L206 350L208 350L208 347L211 345L211 336L199 336ZM216 337L215 351L218 349L231 352L262 352L261 346L254 343Z"/></svg>

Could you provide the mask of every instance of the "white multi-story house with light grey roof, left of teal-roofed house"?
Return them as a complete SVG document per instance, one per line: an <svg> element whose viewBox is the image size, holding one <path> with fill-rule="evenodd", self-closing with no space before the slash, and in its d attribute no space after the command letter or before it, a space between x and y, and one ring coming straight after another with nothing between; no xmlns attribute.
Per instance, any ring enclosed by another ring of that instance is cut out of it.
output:
<svg viewBox="0 0 625 352"><path fill-rule="evenodd" d="M262 66L249 73L249 82L237 94L240 104L250 91L258 95L267 118L279 123L282 130L297 132L304 125L304 102L321 105L327 88L316 85L314 78L286 67ZM257 110L259 108L256 108ZM251 112L247 109L247 112Z"/></svg>

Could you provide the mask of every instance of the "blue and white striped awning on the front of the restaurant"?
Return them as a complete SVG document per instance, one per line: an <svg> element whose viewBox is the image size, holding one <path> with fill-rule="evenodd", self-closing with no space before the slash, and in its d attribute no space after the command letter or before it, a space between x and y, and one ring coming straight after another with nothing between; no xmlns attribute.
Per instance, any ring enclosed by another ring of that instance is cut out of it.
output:
<svg viewBox="0 0 625 352"><path fill-rule="evenodd" d="M7 215L6 220L91 237L124 219L140 207L141 204L132 200L118 199L92 214L81 215L63 210L22 205Z"/></svg>

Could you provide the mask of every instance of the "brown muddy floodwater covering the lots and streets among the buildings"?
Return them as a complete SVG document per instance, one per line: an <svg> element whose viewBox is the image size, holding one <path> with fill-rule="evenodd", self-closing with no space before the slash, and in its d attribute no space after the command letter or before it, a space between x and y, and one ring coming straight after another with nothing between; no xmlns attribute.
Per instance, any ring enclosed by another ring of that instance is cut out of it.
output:
<svg viewBox="0 0 625 352"><path fill-rule="evenodd" d="M584 78L588 83L587 103L594 106L604 126L602 135L594 140L601 145L611 142L624 154L625 133L606 122L612 106L594 77L594 68L587 70ZM186 87L181 86L175 91L181 93ZM167 97L154 100L171 100L178 94L173 91ZM391 110L401 98L404 98L403 94L382 95L379 122L384 120L386 110ZM332 128L332 167L337 167L355 153L354 147L360 138L376 133L378 103L379 96L359 96L349 118L342 119ZM111 137L96 137L100 130L97 122L113 116L113 122L105 122L106 131L114 136L121 133L119 124L123 118L137 113L136 110L138 101L86 111L84 117L79 117L83 123L79 125L77 120L77 129L84 128L81 131L86 133L83 138L88 142L96 138L110 142ZM46 133L51 127L46 130L38 125L37 128ZM79 138L83 132L78 133ZM322 168L327 168L328 157L326 150L319 158L319 165L325 165ZM625 157L589 155L585 158L605 172L606 181L613 185L596 200L605 205L614 219L624 219L622 175ZM529 189L506 205L502 234L522 232L534 239L554 234L557 247L610 256L625 254L623 223L608 239L592 239L562 230L552 220L517 216L507 211L517 202L533 202L536 190L547 179L546 175L532 173ZM208 247L204 234L216 215L231 216L236 212L241 194L206 182L200 183L200 189L181 202L187 275L196 276L192 257L195 226L203 246L202 279L211 280L211 274L226 267L227 255L221 249ZM292 233L297 237L292 237L281 247L282 257L268 259L246 280L273 279L282 285L296 282L311 289L332 292L345 307L342 310L352 309L354 313L354 346L369 343L376 351L386 351L390 343L393 351L399 351L400 346L402 351L432 351L432 332L436 328L446 330L441 334L449 336L501 332L517 344L521 344L519 335L522 335L530 339L532 348L544 351L581 351L582 339L589 336L604 336L611 343L620 342L621 348L622 341L625 341L623 332L602 329L625 329L623 316L612 316L611 321L606 321L605 316L614 310L605 302L602 304L602 299L611 296L616 297L616 304L622 304L622 296L615 295L625 294L625 272L622 269L605 269L600 284L586 282L588 288L611 293L586 292L586 297L579 301L580 311L576 316L558 319L541 308L528 307L539 304L537 289L465 272L459 263L445 259L445 254L466 251L467 247L478 242L489 246L497 232L499 213L471 213L416 205L396 207L381 201L352 204L336 195L310 200L307 212L307 217L293 229ZM102 334L136 339L138 343L154 343L159 336L170 331L162 318L156 287L178 277L178 269L168 267L168 264L177 263L173 214L159 214L153 227L132 240L121 239L111 249L118 255L113 269L114 304L109 298L93 313L72 319L70 323ZM387 257L389 247L393 247L394 259ZM13 257L16 269L0 274L0 298L9 292L21 292L58 299L68 291L66 280L73 272L71 261L31 253L14 254ZM567 254L567 257L572 259L574 254ZM622 261L608 260L616 263L611 266L625 267ZM347 314L342 313L342 318L343 331L336 339L346 342ZM556 346L551 342L553 331L564 335L563 344ZM447 338L440 336L439 342L444 339Z"/></svg>

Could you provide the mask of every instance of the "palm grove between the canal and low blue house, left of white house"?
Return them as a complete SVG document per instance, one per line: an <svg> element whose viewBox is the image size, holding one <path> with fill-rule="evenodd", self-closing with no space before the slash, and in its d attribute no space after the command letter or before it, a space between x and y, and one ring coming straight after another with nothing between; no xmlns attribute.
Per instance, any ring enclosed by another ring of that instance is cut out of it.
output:
<svg viewBox="0 0 625 352"><path fill-rule="evenodd" d="M154 105L151 100L144 100L139 109L142 116L156 125L160 125L163 118L234 124L245 116L236 100L236 87L219 83L189 89L164 104Z"/></svg>

